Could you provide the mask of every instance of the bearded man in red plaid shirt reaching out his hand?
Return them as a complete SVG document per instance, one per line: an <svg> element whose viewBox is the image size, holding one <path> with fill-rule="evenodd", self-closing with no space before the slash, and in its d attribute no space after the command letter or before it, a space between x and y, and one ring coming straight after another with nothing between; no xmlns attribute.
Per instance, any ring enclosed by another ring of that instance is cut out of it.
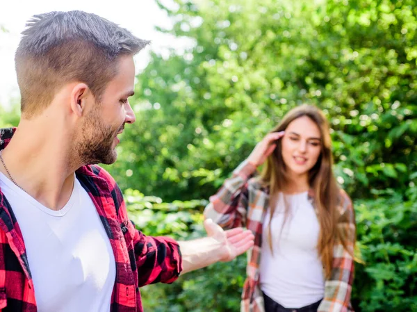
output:
<svg viewBox="0 0 417 312"><path fill-rule="evenodd" d="M147 43L80 11L37 15L24 31L22 118L0 132L1 311L142 311L139 287L253 245L250 231L210 221L199 240L143 235L95 165L116 160L117 135L135 122L133 55Z"/></svg>

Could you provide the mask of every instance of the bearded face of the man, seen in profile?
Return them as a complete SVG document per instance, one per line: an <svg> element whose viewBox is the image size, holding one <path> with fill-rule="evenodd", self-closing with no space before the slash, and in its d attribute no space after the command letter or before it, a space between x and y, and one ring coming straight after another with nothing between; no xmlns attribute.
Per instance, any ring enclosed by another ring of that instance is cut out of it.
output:
<svg viewBox="0 0 417 312"><path fill-rule="evenodd" d="M82 163L111 164L116 161L117 135L122 133L124 124L132 124L136 117L128 98L133 95L135 65L131 56L122 56L118 73L110 81L101 97L88 112L82 126L79 154Z"/></svg>

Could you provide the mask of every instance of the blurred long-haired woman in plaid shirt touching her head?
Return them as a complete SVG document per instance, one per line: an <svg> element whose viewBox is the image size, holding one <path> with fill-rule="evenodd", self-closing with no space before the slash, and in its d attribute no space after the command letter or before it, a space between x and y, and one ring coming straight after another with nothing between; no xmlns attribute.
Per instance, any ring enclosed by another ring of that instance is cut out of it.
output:
<svg viewBox="0 0 417 312"><path fill-rule="evenodd" d="M353 311L354 210L332 165L325 116L298 106L210 197L206 218L255 234L241 311Z"/></svg>

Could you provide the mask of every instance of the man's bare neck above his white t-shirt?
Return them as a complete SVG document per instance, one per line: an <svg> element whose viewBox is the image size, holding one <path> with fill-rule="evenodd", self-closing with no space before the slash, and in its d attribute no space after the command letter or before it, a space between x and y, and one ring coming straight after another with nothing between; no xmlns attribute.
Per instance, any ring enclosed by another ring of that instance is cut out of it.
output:
<svg viewBox="0 0 417 312"><path fill-rule="evenodd" d="M45 140L44 136L49 137ZM62 131L23 121L3 149L8 170L0 163L0 172L40 204L59 210L70 199L74 172L81 167L74 161L71 143Z"/></svg>

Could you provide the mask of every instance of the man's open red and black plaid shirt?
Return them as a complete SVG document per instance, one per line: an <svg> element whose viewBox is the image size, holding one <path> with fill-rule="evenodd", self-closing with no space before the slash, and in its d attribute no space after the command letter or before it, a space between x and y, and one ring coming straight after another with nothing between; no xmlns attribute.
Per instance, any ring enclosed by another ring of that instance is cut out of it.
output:
<svg viewBox="0 0 417 312"><path fill-rule="evenodd" d="M8 145L15 130L0 129L0 149ZM81 167L76 177L95 204L115 255L111 311L142 312L139 287L159 281L172 283L179 276L179 245L171 238L145 236L137 231L128 219L120 188L101 167ZM22 232L1 190L0 311L37 311Z"/></svg>

